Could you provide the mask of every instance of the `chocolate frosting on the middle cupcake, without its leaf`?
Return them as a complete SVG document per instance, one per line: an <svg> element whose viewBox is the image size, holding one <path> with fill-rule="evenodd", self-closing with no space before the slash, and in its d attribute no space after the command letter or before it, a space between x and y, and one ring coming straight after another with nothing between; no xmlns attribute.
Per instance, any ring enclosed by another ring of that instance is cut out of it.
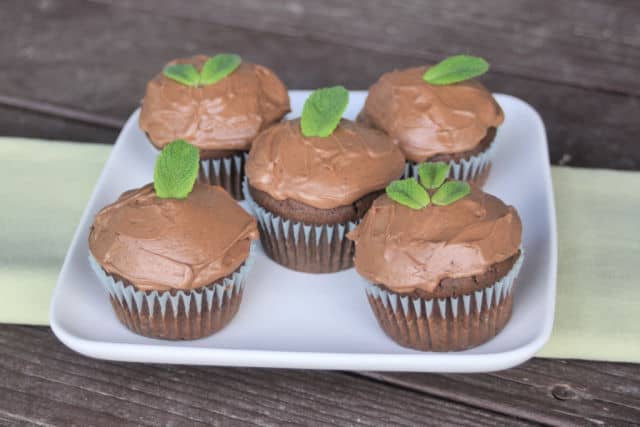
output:
<svg viewBox="0 0 640 427"><path fill-rule="evenodd" d="M402 175L404 164L382 132L343 119L326 138L305 137L296 119L256 138L246 174L252 187L276 200L332 209L383 189Z"/></svg>

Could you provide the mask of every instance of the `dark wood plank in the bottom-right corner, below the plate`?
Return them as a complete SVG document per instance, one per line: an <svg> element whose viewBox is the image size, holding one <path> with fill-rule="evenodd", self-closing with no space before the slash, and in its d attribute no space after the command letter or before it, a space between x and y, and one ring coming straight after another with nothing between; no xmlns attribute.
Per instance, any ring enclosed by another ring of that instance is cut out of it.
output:
<svg viewBox="0 0 640 427"><path fill-rule="evenodd" d="M416 391L551 425L640 422L640 366L533 359L482 375L364 373Z"/></svg>

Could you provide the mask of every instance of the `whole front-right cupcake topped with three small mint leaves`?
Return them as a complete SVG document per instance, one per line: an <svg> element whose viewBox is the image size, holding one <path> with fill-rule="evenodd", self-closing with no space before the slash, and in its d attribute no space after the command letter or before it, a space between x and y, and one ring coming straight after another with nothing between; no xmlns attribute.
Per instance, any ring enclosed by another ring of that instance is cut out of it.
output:
<svg viewBox="0 0 640 427"><path fill-rule="evenodd" d="M355 267L384 332L423 351L459 351L497 335L511 317L522 265L512 206L426 164L376 199L358 227Z"/></svg>

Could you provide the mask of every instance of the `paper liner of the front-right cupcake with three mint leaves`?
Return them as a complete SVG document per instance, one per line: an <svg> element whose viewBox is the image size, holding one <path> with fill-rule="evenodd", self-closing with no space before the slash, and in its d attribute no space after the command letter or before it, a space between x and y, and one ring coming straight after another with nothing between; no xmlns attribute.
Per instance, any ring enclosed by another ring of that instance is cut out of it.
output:
<svg viewBox="0 0 640 427"><path fill-rule="evenodd" d="M366 288L369 304L385 333L398 344L423 351L459 351L496 336L511 317L513 288L524 253L499 281L449 298L412 298Z"/></svg>

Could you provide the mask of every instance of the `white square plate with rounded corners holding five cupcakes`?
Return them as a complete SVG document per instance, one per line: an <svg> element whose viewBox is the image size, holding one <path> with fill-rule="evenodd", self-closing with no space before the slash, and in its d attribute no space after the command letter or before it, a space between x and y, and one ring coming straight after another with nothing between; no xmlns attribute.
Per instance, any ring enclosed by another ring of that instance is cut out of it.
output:
<svg viewBox="0 0 640 427"><path fill-rule="evenodd" d="M292 116L308 91L291 91ZM355 118L366 92L351 92ZM305 369L482 372L532 357L547 341L556 291L556 224L544 124L525 102L497 95L506 120L495 143L486 190L516 206L525 260L513 316L488 343L458 353L423 353L395 344L378 327L355 270L313 275L287 270L258 251L237 316L195 341L138 336L118 322L94 277L87 236L96 212L125 190L150 182L157 152L138 129L138 112L122 129L62 266L51 307L58 338L87 356L132 362Z"/></svg>

